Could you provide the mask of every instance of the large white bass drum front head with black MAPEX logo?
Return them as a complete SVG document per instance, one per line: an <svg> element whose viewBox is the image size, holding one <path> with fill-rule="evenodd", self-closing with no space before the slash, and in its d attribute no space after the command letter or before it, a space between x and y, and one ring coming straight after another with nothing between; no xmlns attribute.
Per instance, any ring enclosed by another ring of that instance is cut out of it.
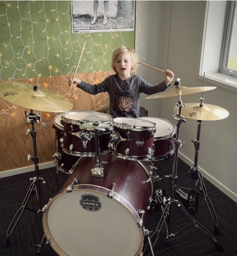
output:
<svg viewBox="0 0 237 256"><path fill-rule="evenodd" d="M88 194L98 197L99 210L82 208L82 196ZM142 248L143 234L137 219L106 194L85 189L63 192L46 208L46 238L51 239L51 246L60 256L135 256Z"/></svg>

